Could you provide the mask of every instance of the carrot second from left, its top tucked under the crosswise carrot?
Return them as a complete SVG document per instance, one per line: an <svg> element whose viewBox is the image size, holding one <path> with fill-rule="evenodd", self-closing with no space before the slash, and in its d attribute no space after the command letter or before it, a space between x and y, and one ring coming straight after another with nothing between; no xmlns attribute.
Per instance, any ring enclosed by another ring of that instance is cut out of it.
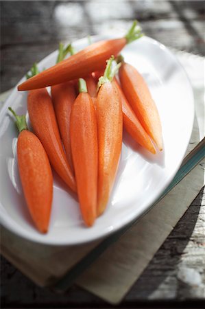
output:
<svg viewBox="0 0 205 309"><path fill-rule="evenodd" d="M62 148L53 103L47 89L29 91L27 108L32 128L43 144L53 169L76 192L75 179Z"/></svg>

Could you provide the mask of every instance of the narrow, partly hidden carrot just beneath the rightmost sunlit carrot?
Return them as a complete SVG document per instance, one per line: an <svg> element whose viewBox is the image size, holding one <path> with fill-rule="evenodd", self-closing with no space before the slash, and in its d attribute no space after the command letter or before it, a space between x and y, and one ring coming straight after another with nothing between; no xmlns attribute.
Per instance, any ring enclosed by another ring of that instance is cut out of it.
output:
<svg viewBox="0 0 205 309"><path fill-rule="evenodd" d="M146 133L145 129L138 121L134 111L130 107L128 100L125 98L125 95L117 82L117 79L114 78L113 82L119 91L119 95L121 97L121 103L123 108L123 126L128 131L128 133L132 136L132 138L141 146L146 148L152 153L156 153L152 141L149 138L149 135Z"/></svg>

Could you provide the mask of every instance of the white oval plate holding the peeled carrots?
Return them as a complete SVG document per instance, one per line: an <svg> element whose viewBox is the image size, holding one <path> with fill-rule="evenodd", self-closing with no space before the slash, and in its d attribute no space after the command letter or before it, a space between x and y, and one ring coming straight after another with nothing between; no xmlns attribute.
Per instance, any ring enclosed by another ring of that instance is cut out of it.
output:
<svg viewBox="0 0 205 309"><path fill-rule="evenodd" d="M108 38L95 36L93 41ZM88 45L87 38L75 42L76 49ZM40 234L29 216L23 197L16 161L17 130L8 106L17 113L27 111L27 93L16 89L0 114L0 210L1 223L10 231L35 242L71 245L89 242L117 231L144 214L165 190L178 171L189 144L193 126L193 93L184 70L162 44L143 37L122 52L145 78L158 107L162 122L164 150L151 155L124 133L117 179L104 214L91 228L84 226L77 201L54 175L53 206L49 233ZM57 52L43 59L38 67L53 65ZM23 78L19 83L23 82ZM46 115L45 115L46 117Z"/></svg>

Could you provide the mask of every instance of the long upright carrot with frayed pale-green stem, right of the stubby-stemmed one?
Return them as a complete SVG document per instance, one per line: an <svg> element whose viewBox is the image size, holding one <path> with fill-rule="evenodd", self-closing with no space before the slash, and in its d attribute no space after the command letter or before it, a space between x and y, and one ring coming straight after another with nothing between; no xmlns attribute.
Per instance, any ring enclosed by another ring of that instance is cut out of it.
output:
<svg viewBox="0 0 205 309"><path fill-rule="evenodd" d="M108 203L121 154L123 115L119 92L112 78L114 56L108 60L104 76L99 78L97 95L97 131L99 150L97 215L102 214Z"/></svg>

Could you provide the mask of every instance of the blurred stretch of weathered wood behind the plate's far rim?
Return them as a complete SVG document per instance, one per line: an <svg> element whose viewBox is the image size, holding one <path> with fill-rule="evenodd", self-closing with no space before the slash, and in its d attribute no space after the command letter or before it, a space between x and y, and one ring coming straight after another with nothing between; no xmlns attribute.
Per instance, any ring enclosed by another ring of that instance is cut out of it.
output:
<svg viewBox="0 0 205 309"><path fill-rule="evenodd" d="M205 54L203 1L1 1L1 92L58 48L138 19L147 36Z"/></svg>

